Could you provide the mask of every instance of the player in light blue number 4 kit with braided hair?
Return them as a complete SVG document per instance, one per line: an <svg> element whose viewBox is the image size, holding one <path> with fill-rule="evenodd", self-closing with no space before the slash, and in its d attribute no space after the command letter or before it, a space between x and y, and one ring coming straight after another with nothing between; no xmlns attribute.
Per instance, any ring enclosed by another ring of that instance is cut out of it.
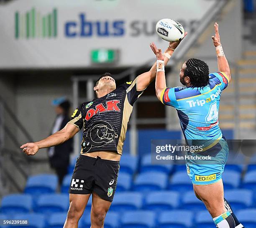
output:
<svg viewBox="0 0 256 228"><path fill-rule="evenodd" d="M243 228L224 198L221 179L228 159L228 144L219 127L218 111L220 95L227 88L231 75L220 43L218 24L215 23L214 27L212 40L219 72L209 74L204 61L191 58L183 63L179 74L185 87L166 88L165 54L154 43L151 44L157 57L156 96L163 104L177 110L187 144L201 146L196 155L202 159L210 155L211 160L208 161L186 160L195 195L203 201L218 228ZM193 154L188 152L188 155Z"/></svg>

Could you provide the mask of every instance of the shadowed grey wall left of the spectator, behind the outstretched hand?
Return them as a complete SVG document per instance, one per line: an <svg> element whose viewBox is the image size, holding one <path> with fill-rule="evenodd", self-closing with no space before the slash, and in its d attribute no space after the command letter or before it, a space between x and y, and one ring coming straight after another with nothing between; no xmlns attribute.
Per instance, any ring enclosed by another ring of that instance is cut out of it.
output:
<svg viewBox="0 0 256 228"><path fill-rule="evenodd" d="M21 76L16 89L17 117L22 121L34 141L47 137L56 117L51 101L67 96L72 101L72 81L69 75L41 73ZM20 131L20 142L26 139ZM46 157L46 149L41 149L35 158Z"/></svg>

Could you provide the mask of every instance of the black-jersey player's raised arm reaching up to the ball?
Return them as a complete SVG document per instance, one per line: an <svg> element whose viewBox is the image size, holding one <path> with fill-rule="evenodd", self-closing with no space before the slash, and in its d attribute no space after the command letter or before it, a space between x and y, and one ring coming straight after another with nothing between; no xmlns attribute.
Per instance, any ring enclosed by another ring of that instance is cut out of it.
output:
<svg viewBox="0 0 256 228"><path fill-rule="evenodd" d="M185 33L184 37L187 35L187 32ZM174 53L175 48L179 45L181 41L177 42L170 42L169 47L166 49L164 53L164 65L169 61L169 58L172 56ZM151 44L150 44L151 46ZM167 57L168 56L168 57ZM151 69L148 72L142 73L141 75L138 76L137 78L137 90L141 91L147 88L147 86L154 81L156 78L156 63L151 67Z"/></svg>

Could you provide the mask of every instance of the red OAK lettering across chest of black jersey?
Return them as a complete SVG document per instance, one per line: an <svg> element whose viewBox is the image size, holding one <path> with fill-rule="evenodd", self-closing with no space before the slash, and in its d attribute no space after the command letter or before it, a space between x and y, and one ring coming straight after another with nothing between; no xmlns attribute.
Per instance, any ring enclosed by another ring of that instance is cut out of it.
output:
<svg viewBox="0 0 256 228"><path fill-rule="evenodd" d="M118 100L112 100L112 101L106 101L106 108L105 106L100 103L95 106L95 109L89 109L86 113L85 119L89 120L97 113L101 113L104 111L120 111L117 104L119 104L120 101Z"/></svg>

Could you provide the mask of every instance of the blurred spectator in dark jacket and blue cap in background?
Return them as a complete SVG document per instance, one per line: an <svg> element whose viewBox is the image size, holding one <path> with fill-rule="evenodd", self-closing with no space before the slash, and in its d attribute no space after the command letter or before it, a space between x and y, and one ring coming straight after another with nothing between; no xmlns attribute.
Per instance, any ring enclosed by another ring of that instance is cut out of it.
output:
<svg viewBox="0 0 256 228"><path fill-rule="evenodd" d="M52 102L55 106L55 112L57 114L53 127L51 129L50 134L54 134L55 132L61 130L65 127L67 122L70 120L69 116L69 108L70 102L61 97ZM48 149L48 156L51 167L55 170L56 174L59 178L59 185L61 185L64 176L68 172L69 166L69 155L73 150L73 139L69 139L55 147L50 147Z"/></svg>

